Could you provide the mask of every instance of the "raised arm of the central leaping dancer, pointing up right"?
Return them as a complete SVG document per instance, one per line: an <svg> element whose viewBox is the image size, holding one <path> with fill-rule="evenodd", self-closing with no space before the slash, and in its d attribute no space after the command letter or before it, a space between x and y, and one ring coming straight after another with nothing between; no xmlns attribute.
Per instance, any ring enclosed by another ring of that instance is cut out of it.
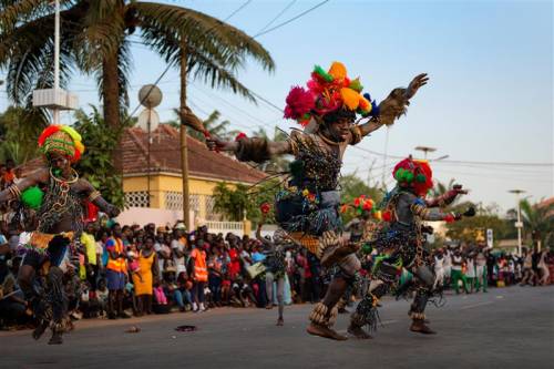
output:
<svg viewBox="0 0 554 369"><path fill-rule="evenodd" d="M406 114L406 107L410 105L410 99L428 81L427 73L421 73L410 82L407 89L398 88L392 90L389 96L379 104L379 115L359 125L361 136L367 136L382 125L391 125L397 119Z"/></svg>

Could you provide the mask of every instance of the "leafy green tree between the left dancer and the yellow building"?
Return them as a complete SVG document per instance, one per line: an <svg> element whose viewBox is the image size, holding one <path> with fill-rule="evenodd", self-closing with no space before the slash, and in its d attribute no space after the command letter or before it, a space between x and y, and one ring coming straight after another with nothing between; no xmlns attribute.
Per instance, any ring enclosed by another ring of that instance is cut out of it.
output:
<svg viewBox="0 0 554 369"><path fill-rule="evenodd" d="M112 127L92 106L85 114L75 112L75 130L83 137L85 153L76 164L76 171L85 177L110 203L124 207L122 177L115 171L112 153L117 148L124 127Z"/></svg>

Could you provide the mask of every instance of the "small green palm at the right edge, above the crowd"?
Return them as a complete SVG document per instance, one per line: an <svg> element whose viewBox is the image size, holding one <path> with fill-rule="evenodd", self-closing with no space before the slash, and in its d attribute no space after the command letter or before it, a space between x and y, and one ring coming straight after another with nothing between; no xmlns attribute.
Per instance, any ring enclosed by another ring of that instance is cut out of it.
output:
<svg viewBox="0 0 554 369"><path fill-rule="evenodd" d="M545 247L554 243L554 203L534 204L527 199L520 202L524 229L535 240L541 240Z"/></svg>

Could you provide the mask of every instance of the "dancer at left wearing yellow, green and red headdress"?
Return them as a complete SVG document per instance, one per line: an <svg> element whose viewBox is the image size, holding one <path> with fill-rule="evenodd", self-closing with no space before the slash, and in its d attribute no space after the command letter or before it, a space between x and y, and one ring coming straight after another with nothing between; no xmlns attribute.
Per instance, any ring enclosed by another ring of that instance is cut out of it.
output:
<svg viewBox="0 0 554 369"><path fill-rule="evenodd" d="M110 216L119 209L71 167L84 152L81 135L70 126L51 125L39 137L48 166L39 168L0 193L0 204L19 199L37 211L38 227L28 243L20 245L23 256L19 286L39 320L33 337L39 339L51 325L50 345L62 344L65 296L64 268L76 255L83 230L83 206L90 202ZM48 296L34 287L34 278L45 273Z"/></svg>

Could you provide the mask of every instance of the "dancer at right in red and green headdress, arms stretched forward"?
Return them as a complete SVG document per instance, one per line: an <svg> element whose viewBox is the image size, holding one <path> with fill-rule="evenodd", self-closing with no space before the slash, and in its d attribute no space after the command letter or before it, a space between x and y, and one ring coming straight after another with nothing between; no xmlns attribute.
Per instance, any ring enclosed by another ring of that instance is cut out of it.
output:
<svg viewBox="0 0 554 369"><path fill-rule="evenodd" d="M454 222L462 216L473 216L475 211L469 208L463 214L456 214L444 213L439 208L450 204L458 195L465 194L461 186L455 186L437 198L425 199L427 193L432 187L432 171L427 161L408 157L394 166L392 174L397 180L397 186L387 195L382 213L382 219L388 222L388 226L378 233L373 242L373 246L388 256L375 268L368 291L352 315L348 330L360 331L366 325L371 330L376 329L379 299L398 280L403 267L414 275L418 286L410 308L412 318L410 330L434 334L425 325L424 316L427 303L434 294L434 275L424 257L423 233L430 229L423 222Z"/></svg>

